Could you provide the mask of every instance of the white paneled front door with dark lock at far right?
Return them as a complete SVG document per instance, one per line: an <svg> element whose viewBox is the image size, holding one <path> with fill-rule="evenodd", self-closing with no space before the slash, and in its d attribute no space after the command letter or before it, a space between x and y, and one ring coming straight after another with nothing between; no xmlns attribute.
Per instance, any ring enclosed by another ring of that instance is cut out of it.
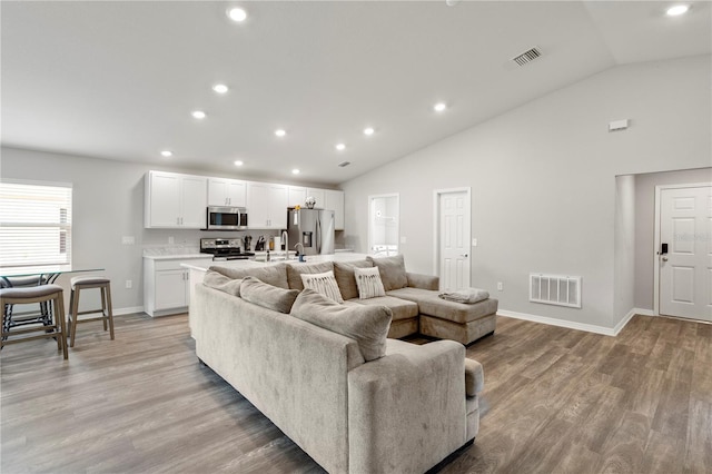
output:
<svg viewBox="0 0 712 474"><path fill-rule="evenodd" d="M712 320L712 186L660 192L660 314Z"/></svg>

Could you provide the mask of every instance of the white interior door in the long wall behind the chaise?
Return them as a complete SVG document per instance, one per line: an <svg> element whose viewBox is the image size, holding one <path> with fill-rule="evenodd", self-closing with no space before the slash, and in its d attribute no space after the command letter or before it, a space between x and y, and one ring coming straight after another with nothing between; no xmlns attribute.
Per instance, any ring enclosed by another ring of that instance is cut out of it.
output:
<svg viewBox="0 0 712 474"><path fill-rule="evenodd" d="M438 192L442 290L469 287L469 191Z"/></svg>

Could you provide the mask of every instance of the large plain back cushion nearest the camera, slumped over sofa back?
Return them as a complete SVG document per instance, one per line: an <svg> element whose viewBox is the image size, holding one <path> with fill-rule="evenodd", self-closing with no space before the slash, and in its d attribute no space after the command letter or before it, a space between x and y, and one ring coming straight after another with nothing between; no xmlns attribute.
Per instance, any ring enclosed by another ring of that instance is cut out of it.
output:
<svg viewBox="0 0 712 474"><path fill-rule="evenodd" d="M386 354L392 313L385 306L339 305L305 288L294 303L291 315L355 339L366 362Z"/></svg>

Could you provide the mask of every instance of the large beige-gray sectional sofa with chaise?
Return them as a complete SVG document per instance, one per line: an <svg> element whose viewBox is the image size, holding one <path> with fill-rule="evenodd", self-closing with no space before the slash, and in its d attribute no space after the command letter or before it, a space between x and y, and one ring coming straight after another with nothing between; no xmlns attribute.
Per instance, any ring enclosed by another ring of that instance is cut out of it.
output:
<svg viewBox="0 0 712 474"><path fill-rule="evenodd" d="M387 295L358 299L354 269L374 265ZM304 289L303 274L329 269L343 304ZM392 337L422 330L424 312L447 313L461 335L494 330L472 329L490 315L468 322L459 306L475 305L437 298L436 285L402 257L211 267L190 305L196 353L328 472L425 472L477 434L483 371L458 342Z"/></svg>

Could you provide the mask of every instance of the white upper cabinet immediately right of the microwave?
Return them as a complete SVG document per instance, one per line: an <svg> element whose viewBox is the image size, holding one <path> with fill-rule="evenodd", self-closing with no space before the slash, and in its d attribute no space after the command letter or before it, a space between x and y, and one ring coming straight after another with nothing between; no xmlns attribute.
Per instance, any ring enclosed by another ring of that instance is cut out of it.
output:
<svg viewBox="0 0 712 474"><path fill-rule="evenodd" d="M247 182L247 226L253 229L286 229L287 203L287 186Z"/></svg>

